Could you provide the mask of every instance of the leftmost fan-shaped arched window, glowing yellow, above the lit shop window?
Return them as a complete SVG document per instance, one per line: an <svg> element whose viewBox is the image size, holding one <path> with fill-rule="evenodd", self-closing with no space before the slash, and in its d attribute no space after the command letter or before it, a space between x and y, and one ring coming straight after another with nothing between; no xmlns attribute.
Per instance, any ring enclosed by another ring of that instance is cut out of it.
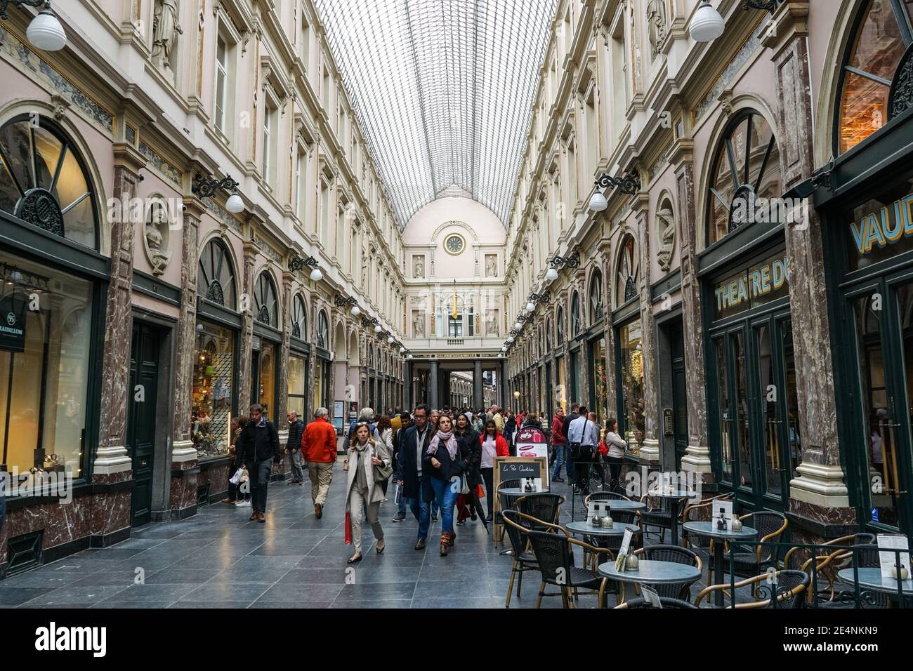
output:
<svg viewBox="0 0 913 671"><path fill-rule="evenodd" d="M89 171L67 134L46 117L22 115L0 128L0 210L98 249ZM129 217L131 211L119 215Z"/></svg>

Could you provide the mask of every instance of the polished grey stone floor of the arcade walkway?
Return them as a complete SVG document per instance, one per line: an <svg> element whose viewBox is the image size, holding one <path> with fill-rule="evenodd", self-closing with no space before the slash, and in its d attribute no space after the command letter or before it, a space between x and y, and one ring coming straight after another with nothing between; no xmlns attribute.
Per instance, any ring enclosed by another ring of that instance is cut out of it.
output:
<svg viewBox="0 0 913 671"><path fill-rule="evenodd" d="M342 473L337 467L322 519L314 517L310 483L274 483L265 524L247 520L250 508L205 506L193 518L148 524L110 548L84 550L0 581L0 607L504 608L511 559L499 553L505 546L495 548L480 521L456 528L456 547L447 557L438 552L439 521L426 550L416 551L417 522L411 514L391 522L391 499L381 508L383 554L375 553L365 523L364 560L347 567L353 550L344 542ZM554 490L570 494L560 484ZM578 498L578 518L580 507ZM570 498L561 518L571 519ZM535 605L537 578L526 573L511 608ZM696 584L692 594L701 587ZM578 607L595 602L582 596ZM561 607L561 598L546 598L542 606Z"/></svg>

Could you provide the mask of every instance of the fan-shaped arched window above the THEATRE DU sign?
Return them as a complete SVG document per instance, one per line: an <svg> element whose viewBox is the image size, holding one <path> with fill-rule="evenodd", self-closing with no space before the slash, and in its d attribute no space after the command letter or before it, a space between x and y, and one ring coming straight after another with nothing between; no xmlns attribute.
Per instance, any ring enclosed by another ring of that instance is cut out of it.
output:
<svg viewBox="0 0 913 671"><path fill-rule="evenodd" d="M777 209L759 207L761 198L782 193L780 152L767 121L743 110L719 141L707 194L707 245L752 222L768 222Z"/></svg>

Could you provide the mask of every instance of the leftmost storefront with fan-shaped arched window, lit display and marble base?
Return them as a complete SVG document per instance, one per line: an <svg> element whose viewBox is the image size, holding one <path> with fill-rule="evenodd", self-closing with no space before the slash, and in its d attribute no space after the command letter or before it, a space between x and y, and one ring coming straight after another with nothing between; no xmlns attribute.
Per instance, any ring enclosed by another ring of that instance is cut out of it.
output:
<svg viewBox="0 0 913 671"><path fill-rule="evenodd" d="M16 495L6 503L0 577L89 547L93 495L106 487L90 484L109 274L98 248L96 194L77 145L43 116L7 121L0 129L0 470ZM56 499L29 494L51 481L63 488L64 477L72 477L69 522Z"/></svg>

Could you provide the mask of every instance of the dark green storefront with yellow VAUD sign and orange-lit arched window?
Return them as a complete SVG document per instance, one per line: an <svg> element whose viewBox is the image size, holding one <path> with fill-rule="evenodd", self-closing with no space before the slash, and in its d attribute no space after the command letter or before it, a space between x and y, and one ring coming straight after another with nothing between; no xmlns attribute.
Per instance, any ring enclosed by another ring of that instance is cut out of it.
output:
<svg viewBox="0 0 913 671"><path fill-rule="evenodd" d="M837 418L850 504L913 533L913 62L910 6L865 3L834 101L823 215ZM868 39L877 35L878 38ZM888 85L887 82L890 82Z"/></svg>

